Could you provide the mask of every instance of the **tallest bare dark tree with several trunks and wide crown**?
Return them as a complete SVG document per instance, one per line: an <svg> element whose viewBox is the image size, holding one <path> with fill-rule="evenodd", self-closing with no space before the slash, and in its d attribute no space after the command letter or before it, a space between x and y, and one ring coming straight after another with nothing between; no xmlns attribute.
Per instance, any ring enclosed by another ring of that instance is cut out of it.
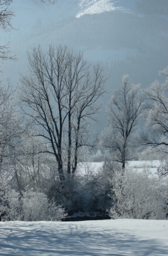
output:
<svg viewBox="0 0 168 256"><path fill-rule="evenodd" d="M42 136L48 141L57 161L60 180L73 177L81 147L92 147L89 121L96 120L104 93L102 68L91 72L81 52L66 46L50 46L47 54L34 47L28 54L29 76L22 76L20 99L22 108ZM89 139L89 140L88 140Z"/></svg>

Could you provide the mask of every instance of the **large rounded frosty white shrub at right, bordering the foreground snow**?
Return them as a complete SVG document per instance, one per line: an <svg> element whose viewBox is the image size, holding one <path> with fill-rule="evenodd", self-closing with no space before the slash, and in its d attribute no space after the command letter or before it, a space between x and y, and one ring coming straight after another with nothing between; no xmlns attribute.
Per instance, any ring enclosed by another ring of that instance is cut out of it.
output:
<svg viewBox="0 0 168 256"><path fill-rule="evenodd" d="M167 187L148 169L138 172L126 168L125 172L115 172L111 186L114 200L111 218L166 218Z"/></svg>

